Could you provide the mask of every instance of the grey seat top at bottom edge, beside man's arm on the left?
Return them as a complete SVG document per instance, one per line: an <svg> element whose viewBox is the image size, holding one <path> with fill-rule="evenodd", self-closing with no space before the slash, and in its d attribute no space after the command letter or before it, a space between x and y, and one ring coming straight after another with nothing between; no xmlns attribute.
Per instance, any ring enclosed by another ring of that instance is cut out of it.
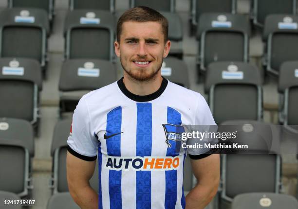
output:
<svg viewBox="0 0 298 209"><path fill-rule="evenodd" d="M47 209L80 209L69 192L56 193L48 201Z"/></svg>

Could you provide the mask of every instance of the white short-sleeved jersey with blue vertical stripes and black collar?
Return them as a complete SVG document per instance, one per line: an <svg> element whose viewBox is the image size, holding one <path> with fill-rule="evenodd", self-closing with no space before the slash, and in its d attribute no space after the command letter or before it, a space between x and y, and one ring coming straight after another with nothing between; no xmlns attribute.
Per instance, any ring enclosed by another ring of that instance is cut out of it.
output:
<svg viewBox="0 0 298 209"><path fill-rule="evenodd" d="M183 124L215 122L201 94L165 78L146 96L130 93L123 78L84 95L73 115L68 151L84 160L97 157L98 208L184 209L187 150L177 149Z"/></svg>

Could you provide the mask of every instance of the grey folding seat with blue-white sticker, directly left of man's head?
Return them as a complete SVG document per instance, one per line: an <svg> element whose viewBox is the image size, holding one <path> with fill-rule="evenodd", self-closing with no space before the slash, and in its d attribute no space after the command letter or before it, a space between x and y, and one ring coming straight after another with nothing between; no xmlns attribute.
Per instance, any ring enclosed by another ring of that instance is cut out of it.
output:
<svg viewBox="0 0 298 209"><path fill-rule="evenodd" d="M105 59L114 52L114 16L109 11L73 10L65 20L66 59Z"/></svg>

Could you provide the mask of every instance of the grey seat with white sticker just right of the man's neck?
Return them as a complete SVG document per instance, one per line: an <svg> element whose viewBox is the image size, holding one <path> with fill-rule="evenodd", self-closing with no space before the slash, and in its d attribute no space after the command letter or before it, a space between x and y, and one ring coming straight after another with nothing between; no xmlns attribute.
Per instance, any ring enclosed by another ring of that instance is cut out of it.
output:
<svg viewBox="0 0 298 209"><path fill-rule="evenodd" d="M175 57L165 58L161 73L163 77L175 84L186 88L190 87L187 66L183 60Z"/></svg>

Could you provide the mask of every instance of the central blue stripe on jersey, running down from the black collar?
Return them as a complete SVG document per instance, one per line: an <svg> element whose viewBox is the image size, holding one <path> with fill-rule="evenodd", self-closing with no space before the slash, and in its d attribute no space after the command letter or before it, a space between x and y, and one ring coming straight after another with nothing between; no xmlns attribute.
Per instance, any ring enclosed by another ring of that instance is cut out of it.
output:
<svg viewBox="0 0 298 209"><path fill-rule="evenodd" d="M137 103L136 156L151 156L152 104ZM151 172L136 172L136 209L151 209Z"/></svg>

